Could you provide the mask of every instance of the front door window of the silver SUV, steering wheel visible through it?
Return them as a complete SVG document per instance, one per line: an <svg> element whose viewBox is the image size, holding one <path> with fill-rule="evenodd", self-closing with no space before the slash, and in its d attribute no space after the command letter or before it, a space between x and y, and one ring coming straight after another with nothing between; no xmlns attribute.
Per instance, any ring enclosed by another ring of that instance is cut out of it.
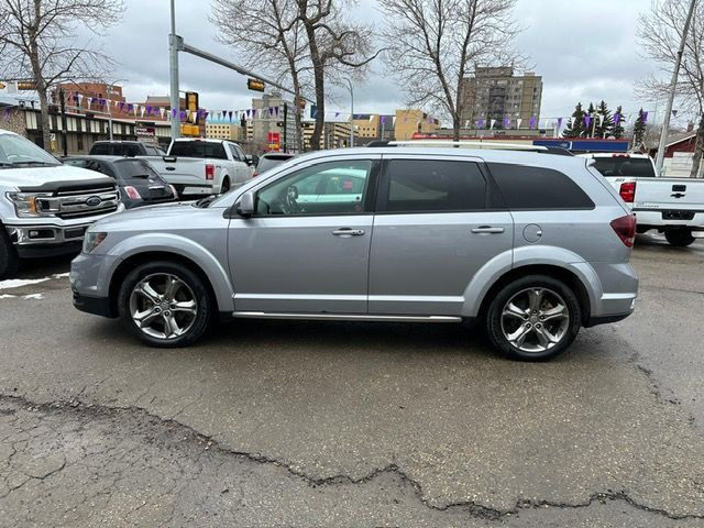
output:
<svg viewBox="0 0 704 528"><path fill-rule="evenodd" d="M351 160L296 170L258 193L257 216L361 213L371 169L370 160Z"/></svg>

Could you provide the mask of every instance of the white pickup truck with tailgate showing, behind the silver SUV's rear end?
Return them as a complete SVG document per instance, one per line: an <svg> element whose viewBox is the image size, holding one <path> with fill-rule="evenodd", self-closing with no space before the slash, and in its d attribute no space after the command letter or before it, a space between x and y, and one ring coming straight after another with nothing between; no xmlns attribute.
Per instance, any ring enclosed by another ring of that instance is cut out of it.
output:
<svg viewBox="0 0 704 528"><path fill-rule="evenodd" d="M704 179L657 177L646 154L580 154L614 186L636 213L637 230L657 229L672 245L690 245L704 231Z"/></svg>

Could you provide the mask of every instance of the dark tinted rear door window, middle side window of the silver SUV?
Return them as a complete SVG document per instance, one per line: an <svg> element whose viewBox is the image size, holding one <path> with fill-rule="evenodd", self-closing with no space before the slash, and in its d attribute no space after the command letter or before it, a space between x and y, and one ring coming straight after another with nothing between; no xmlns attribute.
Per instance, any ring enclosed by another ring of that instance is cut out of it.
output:
<svg viewBox="0 0 704 528"><path fill-rule="evenodd" d="M387 199L380 209L386 211L468 211L486 205L486 182L471 162L392 160L384 187Z"/></svg>

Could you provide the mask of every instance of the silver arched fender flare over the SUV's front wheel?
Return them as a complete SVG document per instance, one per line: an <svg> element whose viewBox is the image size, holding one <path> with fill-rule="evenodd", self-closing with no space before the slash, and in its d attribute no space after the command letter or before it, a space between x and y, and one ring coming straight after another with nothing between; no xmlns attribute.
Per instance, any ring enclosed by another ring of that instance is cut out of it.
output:
<svg viewBox="0 0 704 528"><path fill-rule="evenodd" d="M113 276L120 264L131 256L140 253L173 253L194 262L208 277L216 294L219 311L232 312L234 301L232 300L233 288L228 272L216 256L200 244L190 239L169 233L142 233L120 241L107 253L114 258L108 258L107 284Z"/></svg>

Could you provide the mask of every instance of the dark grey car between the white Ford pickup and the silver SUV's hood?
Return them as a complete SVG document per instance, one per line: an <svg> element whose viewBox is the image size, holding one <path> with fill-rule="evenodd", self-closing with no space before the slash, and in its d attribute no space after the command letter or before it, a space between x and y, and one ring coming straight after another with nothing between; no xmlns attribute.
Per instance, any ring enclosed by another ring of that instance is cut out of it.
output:
<svg viewBox="0 0 704 528"><path fill-rule="evenodd" d="M69 156L64 163L110 176L118 183L127 209L178 200L176 189L139 157Z"/></svg>

